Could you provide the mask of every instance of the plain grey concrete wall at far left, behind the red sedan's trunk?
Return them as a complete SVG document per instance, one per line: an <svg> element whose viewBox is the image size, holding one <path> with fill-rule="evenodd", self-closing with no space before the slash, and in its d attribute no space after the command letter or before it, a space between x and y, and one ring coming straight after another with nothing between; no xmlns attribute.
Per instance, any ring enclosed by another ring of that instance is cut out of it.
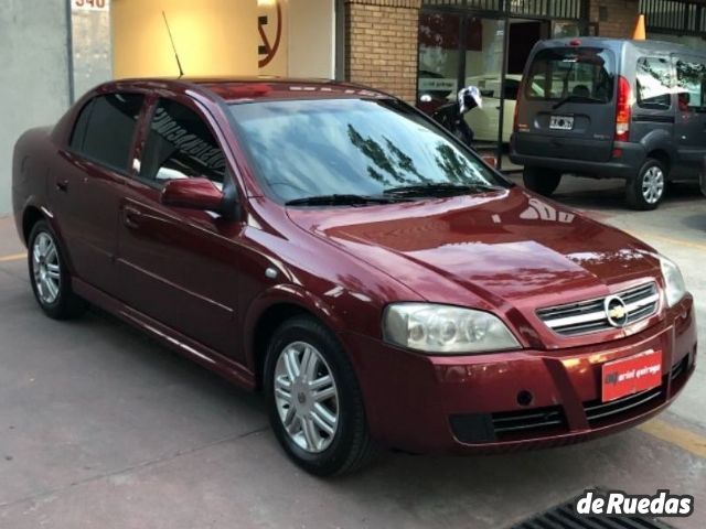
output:
<svg viewBox="0 0 706 529"><path fill-rule="evenodd" d="M68 107L66 0L0 1L0 215L11 210L12 148Z"/></svg>

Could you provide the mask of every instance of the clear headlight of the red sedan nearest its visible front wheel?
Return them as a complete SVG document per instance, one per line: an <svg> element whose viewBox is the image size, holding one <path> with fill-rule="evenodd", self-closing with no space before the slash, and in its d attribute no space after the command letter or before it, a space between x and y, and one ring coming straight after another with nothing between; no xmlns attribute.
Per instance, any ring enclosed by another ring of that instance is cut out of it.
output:
<svg viewBox="0 0 706 529"><path fill-rule="evenodd" d="M505 324L488 312L430 303L395 303L385 310L383 336L425 353L482 353L520 347Z"/></svg>

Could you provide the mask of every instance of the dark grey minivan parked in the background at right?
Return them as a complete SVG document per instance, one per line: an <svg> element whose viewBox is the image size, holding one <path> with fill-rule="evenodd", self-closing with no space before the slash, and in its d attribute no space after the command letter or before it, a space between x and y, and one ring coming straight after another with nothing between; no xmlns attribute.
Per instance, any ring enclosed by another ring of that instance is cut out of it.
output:
<svg viewBox="0 0 706 529"><path fill-rule="evenodd" d="M627 181L635 209L667 182L698 182L706 155L706 53L657 41L538 42L517 96L510 158L550 195L573 174Z"/></svg>

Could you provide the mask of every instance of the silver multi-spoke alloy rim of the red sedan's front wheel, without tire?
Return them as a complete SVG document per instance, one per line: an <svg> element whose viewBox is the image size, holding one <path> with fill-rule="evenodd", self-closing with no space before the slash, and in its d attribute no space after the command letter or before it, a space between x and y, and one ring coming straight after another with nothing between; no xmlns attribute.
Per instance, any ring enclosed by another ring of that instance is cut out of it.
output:
<svg viewBox="0 0 706 529"><path fill-rule="evenodd" d="M321 353L293 342L279 354L274 374L275 403L289 438L306 452L325 451L339 428L339 390Z"/></svg>

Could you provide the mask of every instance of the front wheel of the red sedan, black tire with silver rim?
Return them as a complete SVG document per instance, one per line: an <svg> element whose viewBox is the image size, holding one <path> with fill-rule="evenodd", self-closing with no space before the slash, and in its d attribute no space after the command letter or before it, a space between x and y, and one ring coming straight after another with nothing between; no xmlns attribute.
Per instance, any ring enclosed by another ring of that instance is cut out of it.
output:
<svg viewBox="0 0 706 529"><path fill-rule="evenodd" d="M303 377L296 376L298 370ZM312 390L311 380L323 381L327 374L332 384ZM270 424L297 465L310 474L330 476L370 462L375 449L353 366L321 322L307 315L285 322L269 343L264 376ZM318 401L321 395L328 397Z"/></svg>

